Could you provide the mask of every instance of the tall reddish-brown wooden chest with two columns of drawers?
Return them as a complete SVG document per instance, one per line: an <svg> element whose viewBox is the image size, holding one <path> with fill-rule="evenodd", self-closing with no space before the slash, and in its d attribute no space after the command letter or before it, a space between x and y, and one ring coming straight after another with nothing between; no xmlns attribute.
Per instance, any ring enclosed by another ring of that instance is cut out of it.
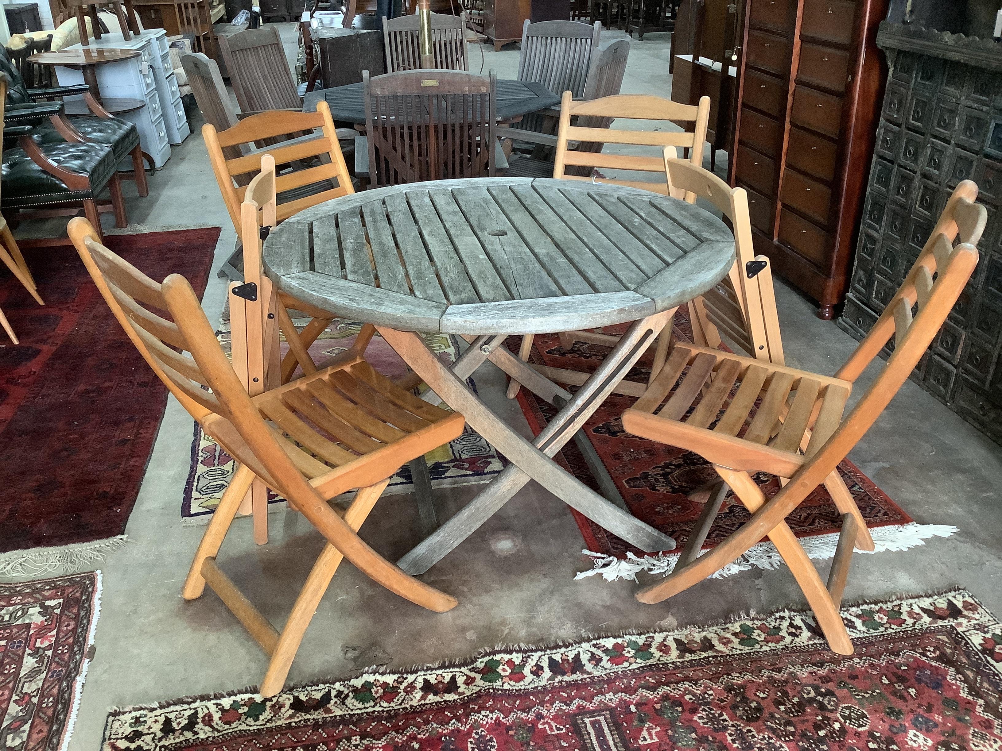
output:
<svg viewBox="0 0 1002 751"><path fill-rule="evenodd" d="M849 287L886 66L887 0L745 0L731 184L756 251L831 318Z"/></svg>

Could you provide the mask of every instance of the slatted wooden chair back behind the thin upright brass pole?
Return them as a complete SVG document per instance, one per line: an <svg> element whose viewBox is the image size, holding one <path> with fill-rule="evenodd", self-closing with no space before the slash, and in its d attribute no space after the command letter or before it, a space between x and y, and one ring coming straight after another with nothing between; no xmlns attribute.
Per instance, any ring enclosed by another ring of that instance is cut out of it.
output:
<svg viewBox="0 0 1002 751"><path fill-rule="evenodd" d="M421 68L420 16L383 19L386 72ZM469 70L470 50L466 40L466 13L451 16L432 13L432 53L439 70Z"/></svg>

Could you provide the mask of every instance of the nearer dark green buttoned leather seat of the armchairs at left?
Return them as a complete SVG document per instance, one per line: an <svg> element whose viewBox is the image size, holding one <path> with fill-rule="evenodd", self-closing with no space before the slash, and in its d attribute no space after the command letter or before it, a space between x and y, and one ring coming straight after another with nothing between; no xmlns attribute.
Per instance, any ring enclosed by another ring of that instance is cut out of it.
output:
<svg viewBox="0 0 1002 751"><path fill-rule="evenodd" d="M44 206L96 198L108 184L118 165L110 146L99 143L53 143L42 147L45 155L63 169L90 176L90 186L70 189L66 183L35 164L21 148L3 155L0 205Z"/></svg>

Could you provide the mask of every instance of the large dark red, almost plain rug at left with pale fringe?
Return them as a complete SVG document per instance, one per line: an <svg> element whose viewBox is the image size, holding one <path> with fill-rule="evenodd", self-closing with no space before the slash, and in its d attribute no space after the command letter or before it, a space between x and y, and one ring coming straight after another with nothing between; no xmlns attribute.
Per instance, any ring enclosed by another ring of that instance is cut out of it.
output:
<svg viewBox="0 0 1002 751"><path fill-rule="evenodd" d="M152 278L176 271L201 294L218 236L209 227L107 243ZM0 277L0 307L21 339L0 340L0 553L121 535L167 395L73 248L25 255L45 305ZM31 573L5 560L3 573Z"/></svg>

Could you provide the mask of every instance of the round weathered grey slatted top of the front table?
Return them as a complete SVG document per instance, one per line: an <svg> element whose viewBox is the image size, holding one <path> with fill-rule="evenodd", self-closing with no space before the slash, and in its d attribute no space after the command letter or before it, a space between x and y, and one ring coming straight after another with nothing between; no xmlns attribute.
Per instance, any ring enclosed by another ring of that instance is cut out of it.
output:
<svg viewBox="0 0 1002 751"><path fill-rule="evenodd" d="M519 177L367 190L265 241L280 289L400 330L546 333L637 320L692 299L734 260L723 222L656 193Z"/></svg>

